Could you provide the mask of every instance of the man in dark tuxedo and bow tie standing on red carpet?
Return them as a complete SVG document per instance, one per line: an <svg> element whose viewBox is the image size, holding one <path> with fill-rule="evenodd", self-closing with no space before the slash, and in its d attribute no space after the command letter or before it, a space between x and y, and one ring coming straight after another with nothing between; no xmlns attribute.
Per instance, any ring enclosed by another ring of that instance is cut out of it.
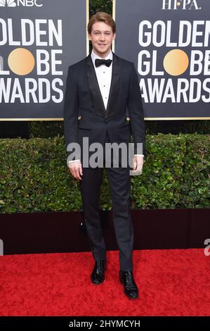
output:
<svg viewBox="0 0 210 331"><path fill-rule="evenodd" d="M70 65L67 73L64 104L64 132L66 146L77 143L81 154L67 164L70 173L80 181L84 223L95 261L91 282L99 285L105 280L106 247L98 213L103 167L84 167L82 153L84 138L88 146L107 142L126 146L133 135L133 174L143 168L145 156L145 124L138 75L133 62L126 61L111 50L116 37L112 16L98 12L88 22L88 39L93 49L81 61ZM126 121L128 109L130 127ZM79 116L80 115L80 116ZM79 119L80 117L80 119ZM138 146L142 149L139 152ZM105 155L105 154L104 154ZM105 158L103 158L105 162ZM113 159L112 159L113 161ZM105 163L103 163L104 165ZM113 162L105 167L110 182L114 231L119 247L119 280L129 299L138 298L133 277L133 225L131 222L131 182L129 165L115 168Z"/></svg>

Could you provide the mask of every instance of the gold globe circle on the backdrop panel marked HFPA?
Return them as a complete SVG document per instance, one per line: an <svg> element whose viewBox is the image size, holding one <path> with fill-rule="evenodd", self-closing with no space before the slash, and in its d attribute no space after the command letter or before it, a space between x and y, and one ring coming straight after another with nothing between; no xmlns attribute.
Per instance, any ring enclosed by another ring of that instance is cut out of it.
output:
<svg viewBox="0 0 210 331"><path fill-rule="evenodd" d="M164 69L171 76L178 76L188 69L188 54L181 49L172 49L164 56Z"/></svg>

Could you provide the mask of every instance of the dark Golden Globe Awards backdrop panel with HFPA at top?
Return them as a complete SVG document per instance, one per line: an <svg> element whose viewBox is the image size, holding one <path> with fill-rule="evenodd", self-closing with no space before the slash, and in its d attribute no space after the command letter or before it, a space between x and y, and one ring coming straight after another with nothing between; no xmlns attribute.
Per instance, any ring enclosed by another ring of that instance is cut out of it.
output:
<svg viewBox="0 0 210 331"><path fill-rule="evenodd" d="M210 119L210 1L113 0L114 52L136 65L146 119Z"/></svg>

